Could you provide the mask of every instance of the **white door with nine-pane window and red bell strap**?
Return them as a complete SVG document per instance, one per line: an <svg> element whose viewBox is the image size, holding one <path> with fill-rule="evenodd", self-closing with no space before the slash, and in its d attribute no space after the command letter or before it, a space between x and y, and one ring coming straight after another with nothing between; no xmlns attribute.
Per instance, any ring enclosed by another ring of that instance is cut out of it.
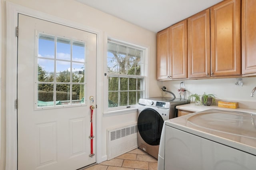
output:
<svg viewBox="0 0 256 170"><path fill-rule="evenodd" d="M18 170L96 162L96 34L22 14L18 30Z"/></svg>

